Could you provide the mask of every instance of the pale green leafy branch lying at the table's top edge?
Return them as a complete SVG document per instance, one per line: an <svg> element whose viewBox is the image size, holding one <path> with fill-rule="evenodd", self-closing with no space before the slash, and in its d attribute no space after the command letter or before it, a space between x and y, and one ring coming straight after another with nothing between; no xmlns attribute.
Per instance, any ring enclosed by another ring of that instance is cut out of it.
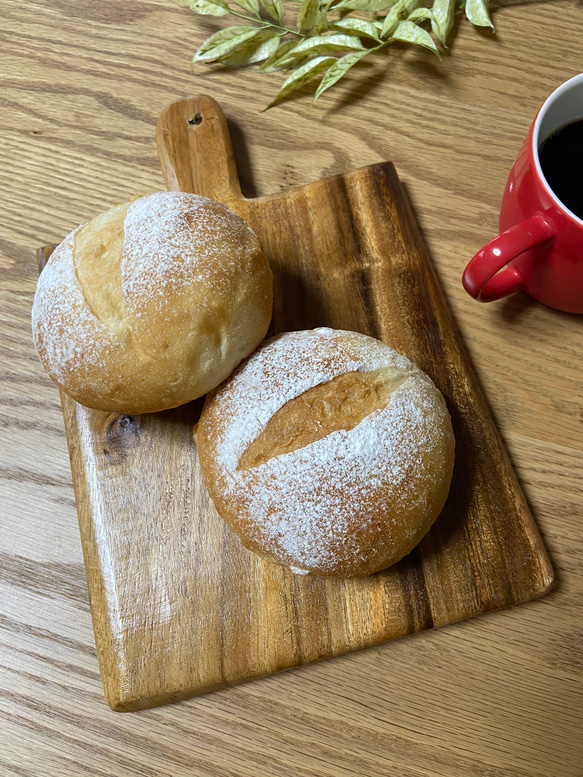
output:
<svg viewBox="0 0 583 777"><path fill-rule="evenodd" d="M437 44L447 48L458 7L472 24L494 29L488 0L433 0L430 6L423 0L177 1L199 14L229 14L246 22L211 35L193 63L259 65L265 73L290 73L268 108L319 76L315 102L364 57L394 41L422 46L441 59ZM290 6L293 23L286 21Z"/></svg>

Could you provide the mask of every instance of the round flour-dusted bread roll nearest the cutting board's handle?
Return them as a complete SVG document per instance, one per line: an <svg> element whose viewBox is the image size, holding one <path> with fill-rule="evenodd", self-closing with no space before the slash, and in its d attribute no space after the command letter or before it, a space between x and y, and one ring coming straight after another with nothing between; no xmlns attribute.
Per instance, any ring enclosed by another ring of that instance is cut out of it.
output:
<svg viewBox="0 0 583 777"><path fill-rule="evenodd" d="M32 309L37 353L89 407L165 410L217 386L265 337L272 275L224 205L159 192L83 224L55 249Z"/></svg>

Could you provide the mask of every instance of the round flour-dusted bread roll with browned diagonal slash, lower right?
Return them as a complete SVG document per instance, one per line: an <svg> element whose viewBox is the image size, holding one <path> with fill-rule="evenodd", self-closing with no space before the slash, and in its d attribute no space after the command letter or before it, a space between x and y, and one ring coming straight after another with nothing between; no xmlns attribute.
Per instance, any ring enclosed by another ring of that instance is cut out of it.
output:
<svg viewBox="0 0 583 777"><path fill-rule="evenodd" d="M391 566L441 512L453 471L445 401L418 367L355 332L265 341L206 399L200 465L243 544L295 572Z"/></svg>

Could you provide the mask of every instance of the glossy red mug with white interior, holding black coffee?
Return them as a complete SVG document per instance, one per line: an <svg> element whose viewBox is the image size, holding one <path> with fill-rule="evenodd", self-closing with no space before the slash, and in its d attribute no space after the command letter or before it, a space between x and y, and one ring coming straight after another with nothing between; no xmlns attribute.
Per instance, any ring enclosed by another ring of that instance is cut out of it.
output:
<svg viewBox="0 0 583 777"><path fill-rule="evenodd" d="M539 158L543 141L577 119L583 73L559 86L536 115L504 190L501 234L464 271L472 297L491 302L523 289L549 307L583 313L583 220L550 188Z"/></svg>

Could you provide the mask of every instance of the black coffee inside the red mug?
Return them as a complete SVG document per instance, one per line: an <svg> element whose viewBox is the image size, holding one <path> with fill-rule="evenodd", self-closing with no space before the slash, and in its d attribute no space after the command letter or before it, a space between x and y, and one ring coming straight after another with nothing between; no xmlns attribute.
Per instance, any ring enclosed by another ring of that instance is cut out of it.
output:
<svg viewBox="0 0 583 777"><path fill-rule="evenodd" d="M583 119L551 132L540 147L539 159L555 195L583 219Z"/></svg>

